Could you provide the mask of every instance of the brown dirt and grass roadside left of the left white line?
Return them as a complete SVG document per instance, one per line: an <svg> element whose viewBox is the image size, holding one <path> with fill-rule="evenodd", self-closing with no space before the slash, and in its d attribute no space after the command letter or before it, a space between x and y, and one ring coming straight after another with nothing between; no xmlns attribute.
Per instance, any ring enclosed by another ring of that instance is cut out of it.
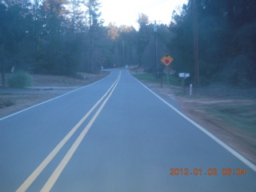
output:
<svg viewBox="0 0 256 192"><path fill-rule="evenodd" d="M16 90L0 88L0 118L45 102L61 94L86 86L92 82L105 78L110 72L100 74L79 74L80 78L68 78L65 76L53 75L31 75L33 85L27 89ZM6 74L6 79L10 74ZM0 82L2 83L2 82Z"/></svg>

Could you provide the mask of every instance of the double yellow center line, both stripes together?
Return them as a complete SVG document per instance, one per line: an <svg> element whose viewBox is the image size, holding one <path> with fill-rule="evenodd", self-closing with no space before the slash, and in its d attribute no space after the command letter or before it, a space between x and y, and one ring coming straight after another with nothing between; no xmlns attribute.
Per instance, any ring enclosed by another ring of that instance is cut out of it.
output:
<svg viewBox="0 0 256 192"><path fill-rule="evenodd" d="M42 170L44 170L46 166L50 163L50 161L55 157L55 155L58 154L58 151L62 149L62 146L66 144L66 142L71 138L74 132L78 130L78 128L82 125L82 123L86 121L86 118L89 117L89 115L96 109L96 107L105 98L105 100L102 102L102 105L98 108L97 112L94 114L93 118L90 119L90 122L86 125L84 130L82 130L82 133L79 134L74 144L70 147L70 150L68 150L65 157L62 158L62 162L58 164L58 167L54 170L54 173L51 174L50 178L47 180L46 184L42 187L42 190L41 190L41 192L50 191L50 189L54 186L54 183L57 181L59 175L62 173L62 170L64 170L66 164L70 161L70 158L72 158L75 150L77 150L78 146L82 142L82 139L86 136L86 133L88 132L90 127L94 124L94 121L96 120L96 118L98 118L98 114L100 114L103 107L106 105L106 102L109 100L110 96L113 94L114 89L118 85L120 77L121 77L121 72L119 71L118 78L115 80L112 86L110 86L110 89L106 91L106 94L104 94L102 98L100 98L98 102L96 102L95 105L87 112L87 114L77 123L77 125L75 125L72 128L72 130L70 130L70 132L66 134L65 138L63 138L62 141L58 143L58 146L56 146L54 150L50 152L50 154L38 166L38 168L34 170L32 174L30 174L30 176L26 179L25 182L22 183L21 186L19 186L16 192L24 192L30 187L30 185L34 182L34 180L38 178L38 175L42 173Z"/></svg>

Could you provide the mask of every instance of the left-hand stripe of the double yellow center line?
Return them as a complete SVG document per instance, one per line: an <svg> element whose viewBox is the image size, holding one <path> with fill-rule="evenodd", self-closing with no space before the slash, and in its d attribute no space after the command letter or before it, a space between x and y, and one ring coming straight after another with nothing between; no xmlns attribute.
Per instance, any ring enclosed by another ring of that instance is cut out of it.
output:
<svg viewBox="0 0 256 192"><path fill-rule="evenodd" d="M62 141L58 143L58 146L56 146L54 150L50 152L50 154L45 158L45 160L43 160L43 162L36 168L36 170L34 170L32 174L30 174L26 181L18 187L18 190L16 190L16 192L25 192L30 187L34 180L38 178L38 175L42 173L42 170L44 170L46 166L50 163L50 161L55 157L55 155L58 154L58 151L62 149L62 146L66 144L66 142L71 138L74 132L78 130L79 126L81 126L82 123L86 121L86 118L89 117L89 115L95 110L99 103L102 102L103 98L105 98L110 90L116 85L116 83L119 81L119 78L120 71L117 80L114 81L114 83L110 86L110 89L106 91L106 94L104 94L102 98L100 98L98 102L96 102L95 105L87 112L87 114L72 128L72 130L70 130L70 132L66 134L65 138L63 138Z"/></svg>

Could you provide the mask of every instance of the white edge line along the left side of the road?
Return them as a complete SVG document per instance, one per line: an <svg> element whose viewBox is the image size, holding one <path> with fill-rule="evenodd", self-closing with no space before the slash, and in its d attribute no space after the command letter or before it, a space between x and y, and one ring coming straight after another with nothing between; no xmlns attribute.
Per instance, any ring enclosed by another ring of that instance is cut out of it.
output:
<svg viewBox="0 0 256 192"><path fill-rule="evenodd" d="M112 71L111 71L110 74L112 74ZM107 75L105 78L109 77L110 74ZM105 78L102 78L102 79L98 80L97 82L101 82L101 81L102 81L103 79L105 79ZM38 104L36 104L36 105L34 105L34 106L30 106L30 107L28 107L28 108L26 108L26 109L24 109L24 110L20 110L20 111L18 111L18 112L15 112L14 114L9 114L9 115L7 115L6 117L0 118L0 121L4 120L4 119L6 119L6 118L10 118L10 117L12 117L12 116L14 116L14 115L16 115L16 114L21 114L22 112L24 112L24 111L26 111L26 110L30 110L30 109L32 109L32 108L34 108L34 107L36 107L36 106L41 106L42 104L45 104L46 102L51 102L51 101L53 101L53 100L55 100L55 99L57 99L57 98L62 98L63 96L65 96L65 95L67 95L67 94L72 94L73 92L75 92L75 91L77 91L77 90L82 90L83 88L85 88L85 87L87 87L87 86L92 86L92 85L94 85L94 84L97 83L97 82L92 82L92 83L90 83L90 84L88 84L88 85L86 85L86 86L82 86L82 87L80 87L80 88L78 88L78 89L76 89L76 90L71 90L70 92L67 92L66 94L61 94L61 95L59 95L59 96L57 96L57 97L55 97L55 98L50 98L49 100L46 100L45 102L39 102Z"/></svg>

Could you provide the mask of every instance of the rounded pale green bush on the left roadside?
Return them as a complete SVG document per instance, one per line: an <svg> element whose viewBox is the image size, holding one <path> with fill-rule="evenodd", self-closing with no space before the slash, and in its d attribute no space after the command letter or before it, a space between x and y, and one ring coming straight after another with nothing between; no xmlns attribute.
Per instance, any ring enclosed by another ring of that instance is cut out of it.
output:
<svg viewBox="0 0 256 192"><path fill-rule="evenodd" d="M26 74L24 71L18 71L12 74L8 79L8 85L12 88L24 88L25 86L31 86L32 79L30 74Z"/></svg>

